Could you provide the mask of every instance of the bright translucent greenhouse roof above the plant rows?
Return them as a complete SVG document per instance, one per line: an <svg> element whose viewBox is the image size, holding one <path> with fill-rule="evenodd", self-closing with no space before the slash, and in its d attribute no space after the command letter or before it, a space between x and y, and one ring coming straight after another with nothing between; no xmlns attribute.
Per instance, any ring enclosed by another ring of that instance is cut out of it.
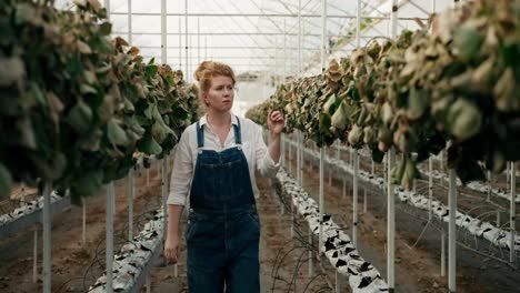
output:
<svg viewBox="0 0 520 293"><path fill-rule="evenodd" d="M109 7L112 36L138 47L146 59L161 61L161 0L100 2ZM207 59L228 63L239 74L298 72L298 0L164 2L166 62L187 70L188 78ZM399 1L403 8L399 29L418 28L411 18L426 20L433 6L442 9L450 2ZM71 0L56 0L56 6L73 9ZM363 0L361 7L361 28L366 30L361 46L373 37L388 36L391 0ZM356 14L357 1L327 1L326 44L336 52L331 58L343 57L354 48ZM301 16L302 69L311 74L320 71L321 1L301 0Z"/></svg>

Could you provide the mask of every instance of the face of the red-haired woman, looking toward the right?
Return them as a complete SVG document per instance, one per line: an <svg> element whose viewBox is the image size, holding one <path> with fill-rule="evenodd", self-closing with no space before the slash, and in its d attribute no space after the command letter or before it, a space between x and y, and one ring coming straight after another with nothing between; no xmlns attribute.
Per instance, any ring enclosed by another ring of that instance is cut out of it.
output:
<svg viewBox="0 0 520 293"><path fill-rule="evenodd" d="M234 88L231 78L217 75L211 79L211 87L204 94L204 101L209 109L228 112L233 105Z"/></svg>

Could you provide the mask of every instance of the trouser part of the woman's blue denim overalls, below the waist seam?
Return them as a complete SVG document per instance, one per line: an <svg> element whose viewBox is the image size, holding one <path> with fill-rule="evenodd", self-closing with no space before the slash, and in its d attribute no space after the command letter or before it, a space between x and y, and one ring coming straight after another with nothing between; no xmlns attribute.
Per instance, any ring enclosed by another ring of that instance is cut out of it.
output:
<svg viewBox="0 0 520 293"><path fill-rule="evenodd" d="M192 211L186 231L190 293L259 293L260 222L254 209Z"/></svg>

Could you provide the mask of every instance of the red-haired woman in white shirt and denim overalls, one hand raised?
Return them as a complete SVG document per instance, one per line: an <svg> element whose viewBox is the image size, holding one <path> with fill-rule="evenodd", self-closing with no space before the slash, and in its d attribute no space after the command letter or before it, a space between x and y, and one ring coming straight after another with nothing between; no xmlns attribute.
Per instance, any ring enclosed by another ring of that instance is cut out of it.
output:
<svg viewBox="0 0 520 293"><path fill-rule="evenodd" d="M188 127L176 151L168 199L164 255L177 262L179 218L187 195L186 229L190 293L260 292L260 222L256 210L254 169L274 175L279 168L283 117L268 117L269 149L262 130L231 113L234 73L204 61L196 71L207 113Z"/></svg>

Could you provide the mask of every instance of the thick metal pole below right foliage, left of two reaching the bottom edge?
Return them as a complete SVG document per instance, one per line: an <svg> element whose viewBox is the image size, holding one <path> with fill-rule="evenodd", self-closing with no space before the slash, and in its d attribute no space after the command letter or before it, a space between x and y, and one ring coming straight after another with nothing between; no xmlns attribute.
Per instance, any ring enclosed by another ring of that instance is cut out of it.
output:
<svg viewBox="0 0 520 293"><path fill-rule="evenodd" d="M396 287L396 199L393 196L393 184L391 181L391 171L396 161L396 150L390 149L388 155L388 190L387 190L387 235L388 235L388 251L387 251L387 281L391 292Z"/></svg>

